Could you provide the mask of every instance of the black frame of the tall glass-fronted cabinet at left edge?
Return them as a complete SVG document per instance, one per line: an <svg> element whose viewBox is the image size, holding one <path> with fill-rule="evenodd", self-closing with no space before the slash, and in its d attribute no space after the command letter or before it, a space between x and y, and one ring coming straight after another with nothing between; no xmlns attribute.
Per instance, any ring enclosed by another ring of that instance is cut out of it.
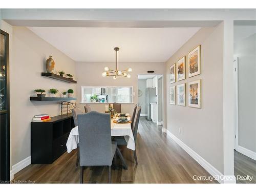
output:
<svg viewBox="0 0 256 192"><path fill-rule="evenodd" d="M1 151L4 151L4 162L1 162L1 167L4 167L3 175L1 175L0 180L5 183L10 183L10 70L9 70L9 33L0 30L0 33L6 36L5 44L5 57L6 57L6 111L1 112L1 114L7 114L7 122L5 127L5 146ZM2 172L2 170L1 170Z"/></svg>

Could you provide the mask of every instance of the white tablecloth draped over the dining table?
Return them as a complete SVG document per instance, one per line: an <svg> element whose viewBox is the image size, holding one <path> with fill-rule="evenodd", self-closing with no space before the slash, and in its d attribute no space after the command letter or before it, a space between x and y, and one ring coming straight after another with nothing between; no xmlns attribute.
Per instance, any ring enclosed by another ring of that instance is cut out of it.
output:
<svg viewBox="0 0 256 192"><path fill-rule="evenodd" d="M130 118L129 118L130 119ZM126 124L118 124L114 123L115 119L111 119L111 136L124 136L125 141L127 142L127 148L131 150L135 150L135 142L133 137L133 132L131 129L131 123ZM77 148L77 144L79 143L78 137L78 126L74 127L67 141L67 151L70 153L72 150Z"/></svg>

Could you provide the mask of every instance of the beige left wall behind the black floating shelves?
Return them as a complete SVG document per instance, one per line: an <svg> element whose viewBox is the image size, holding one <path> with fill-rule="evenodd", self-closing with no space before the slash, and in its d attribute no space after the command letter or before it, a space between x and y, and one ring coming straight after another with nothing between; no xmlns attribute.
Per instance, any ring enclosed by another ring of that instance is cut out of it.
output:
<svg viewBox="0 0 256 192"><path fill-rule="evenodd" d="M41 76L41 72L46 72L45 62L49 55L55 61L55 73L63 70L73 74L76 79L75 62L72 59L29 29L13 27L10 48L11 166L31 155L30 122L33 116L42 113L49 113L50 116L60 114L58 102L30 101L29 97L35 95L33 90L56 88L60 93L71 88L76 93L74 84Z"/></svg>

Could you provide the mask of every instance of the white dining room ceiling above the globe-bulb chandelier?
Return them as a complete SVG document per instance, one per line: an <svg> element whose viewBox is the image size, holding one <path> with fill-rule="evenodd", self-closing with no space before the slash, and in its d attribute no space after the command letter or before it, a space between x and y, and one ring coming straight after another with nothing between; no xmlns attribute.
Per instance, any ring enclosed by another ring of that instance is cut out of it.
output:
<svg viewBox="0 0 256 192"><path fill-rule="evenodd" d="M200 28L28 27L75 61L165 62ZM54 55L53 55L54 56Z"/></svg>

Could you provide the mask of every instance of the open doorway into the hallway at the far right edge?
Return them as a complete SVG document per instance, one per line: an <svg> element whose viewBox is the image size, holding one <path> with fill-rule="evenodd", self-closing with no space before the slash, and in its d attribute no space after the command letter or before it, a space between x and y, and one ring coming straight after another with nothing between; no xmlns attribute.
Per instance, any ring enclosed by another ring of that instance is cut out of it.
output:
<svg viewBox="0 0 256 192"><path fill-rule="evenodd" d="M237 183L256 183L255 42L256 26L234 26L233 148L234 175L237 177ZM239 176L246 176L247 179L241 180Z"/></svg>

